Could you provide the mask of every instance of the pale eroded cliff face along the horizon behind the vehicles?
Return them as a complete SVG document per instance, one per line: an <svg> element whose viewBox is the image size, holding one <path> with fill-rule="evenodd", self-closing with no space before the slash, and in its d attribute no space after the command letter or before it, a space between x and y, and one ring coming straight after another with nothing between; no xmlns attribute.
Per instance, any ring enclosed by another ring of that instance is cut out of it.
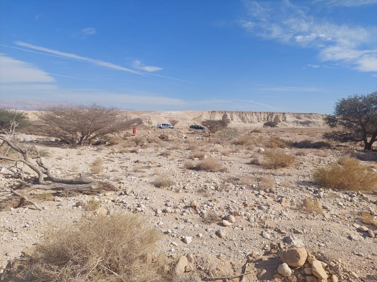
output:
<svg viewBox="0 0 377 282"><path fill-rule="evenodd" d="M325 115L314 113L287 112L242 112L242 111L176 111L147 112L138 115L145 124L168 123L170 119L178 120L178 126L200 124L203 120L230 120L230 126L262 126L266 121L276 121L279 126L287 127L321 127Z"/></svg>

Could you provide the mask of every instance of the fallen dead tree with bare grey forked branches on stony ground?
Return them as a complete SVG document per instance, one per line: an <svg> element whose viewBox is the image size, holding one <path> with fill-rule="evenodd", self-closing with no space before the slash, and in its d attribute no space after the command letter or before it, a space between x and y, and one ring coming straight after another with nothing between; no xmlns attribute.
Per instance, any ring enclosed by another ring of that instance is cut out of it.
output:
<svg viewBox="0 0 377 282"><path fill-rule="evenodd" d="M114 190L114 187L109 183L89 179L83 177L82 174L80 174L80 178L78 179L62 179L55 177L52 175L51 170L44 164L38 152L34 161L34 159L29 158L26 148L25 150L21 149L2 135L0 135L0 141L2 142L0 146L7 144L11 149L21 154L18 158L0 155L0 160L15 162L14 173L0 172L1 174L12 178L9 180L11 183L11 185L9 185L10 191L1 193L0 197L13 194L14 196L21 197L26 202L33 204L35 208L41 210L37 203L28 199L25 194L17 192L17 190L23 189L26 193L29 193L32 190L52 190L58 193L78 192L83 194L97 194L105 190ZM19 163L27 165L37 174L37 176L26 174L23 168L18 165Z"/></svg>

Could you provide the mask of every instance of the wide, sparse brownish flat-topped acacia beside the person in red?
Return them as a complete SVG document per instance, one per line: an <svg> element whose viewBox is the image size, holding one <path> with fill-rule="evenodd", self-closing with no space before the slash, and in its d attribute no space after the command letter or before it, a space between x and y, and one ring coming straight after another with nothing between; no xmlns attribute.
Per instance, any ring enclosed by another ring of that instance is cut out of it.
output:
<svg viewBox="0 0 377 282"><path fill-rule="evenodd" d="M42 121L41 131L70 144L81 144L94 138L142 123L140 118L130 118L115 107L91 105L58 105L44 108L37 114Z"/></svg>

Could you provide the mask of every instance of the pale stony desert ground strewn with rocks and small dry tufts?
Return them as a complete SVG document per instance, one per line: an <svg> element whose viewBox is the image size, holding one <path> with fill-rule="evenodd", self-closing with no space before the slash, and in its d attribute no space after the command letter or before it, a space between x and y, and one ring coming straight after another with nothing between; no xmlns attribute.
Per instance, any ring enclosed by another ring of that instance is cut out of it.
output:
<svg viewBox="0 0 377 282"><path fill-rule="evenodd" d="M337 281L332 274L339 281L377 279L372 276L377 273L376 227L360 219L362 211L376 216L376 191L335 191L317 186L311 177L318 165L332 164L345 154L359 155L366 169L376 171L375 153L363 153L357 146L287 147L285 152L296 155L296 164L270 170L256 164L256 159L263 161L270 136L318 141L322 130L262 130L249 135L253 142L238 145L234 141L249 129L213 135L211 141L202 132L187 129L139 129L136 146L126 141L70 147L54 138L17 135L20 141L46 150L49 156L44 162L55 176L75 178L83 173L110 182L118 190L97 196L54 195L52 201L39 203L43 211L32 205L1 211L1 271L54 227L88 213L132 212L161 232L162 252L181 257L183 269L200 279L237 276L246 263L246 272L252 273L243 281ZM161 133L168 139L159 142ZM219 161L226 170L187 169L187 161L200 161L195 153ZM93 170L98 158L102 167ZM7 172L11 163L0 165ZM158 188L156 180L161 179L172 182ZM6 190L9 180L1 178L0 192ZM86 204L92 199L101 200L100 208L87 211ZM305 199L319 199L320 209L305 208ZM297 244L300 246L288 249Z"/></svg>

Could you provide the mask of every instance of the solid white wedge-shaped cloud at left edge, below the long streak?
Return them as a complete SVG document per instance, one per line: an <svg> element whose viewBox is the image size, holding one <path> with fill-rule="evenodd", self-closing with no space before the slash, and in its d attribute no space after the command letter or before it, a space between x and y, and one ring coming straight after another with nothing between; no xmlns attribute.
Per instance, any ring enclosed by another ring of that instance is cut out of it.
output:
<svg viewBox="0 0 377 282"><path fill-rule="evenodd" d="M28 62L0 53L0 83L54 82L55 79Z"/></svg>

